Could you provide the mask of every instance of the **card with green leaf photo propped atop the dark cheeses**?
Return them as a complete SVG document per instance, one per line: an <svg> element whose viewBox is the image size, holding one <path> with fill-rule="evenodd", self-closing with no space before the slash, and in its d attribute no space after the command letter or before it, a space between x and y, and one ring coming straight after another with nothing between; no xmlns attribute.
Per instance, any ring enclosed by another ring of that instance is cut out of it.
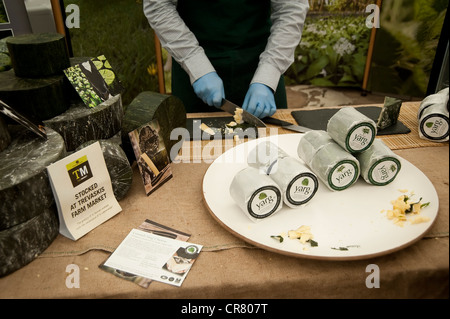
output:
<svg viewBox="0 0 450 319"><path fill-rule="evenodd" d="M90 108L112 97L108 85L91 60L65 69L64 74L84 104Z"/></svg>

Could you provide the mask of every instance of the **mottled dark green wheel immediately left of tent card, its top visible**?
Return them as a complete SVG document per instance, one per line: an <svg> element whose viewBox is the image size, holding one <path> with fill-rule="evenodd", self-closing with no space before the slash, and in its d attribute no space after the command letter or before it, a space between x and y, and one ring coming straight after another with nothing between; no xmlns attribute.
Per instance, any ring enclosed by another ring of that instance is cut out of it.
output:
<svg viewBox="0 0 450 319"><path fill-rule="evenodd" d="M47 166L66 151L58 133L46 132L47 140L21 128L0 153L0 230L29 220L54 203Z"/></svg>

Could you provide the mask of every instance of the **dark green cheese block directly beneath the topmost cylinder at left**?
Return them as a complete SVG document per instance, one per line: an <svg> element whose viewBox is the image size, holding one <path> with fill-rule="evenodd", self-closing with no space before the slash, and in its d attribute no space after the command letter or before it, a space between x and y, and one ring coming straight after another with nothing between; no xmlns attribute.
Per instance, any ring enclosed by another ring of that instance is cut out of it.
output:
<svg viewBox="0 0 450 319"><path fill-rule="evenodd" d="M17 112L43 121L69 108L69 85L64 75L29 79L9 70L0 72L0 100Z"/></svg>

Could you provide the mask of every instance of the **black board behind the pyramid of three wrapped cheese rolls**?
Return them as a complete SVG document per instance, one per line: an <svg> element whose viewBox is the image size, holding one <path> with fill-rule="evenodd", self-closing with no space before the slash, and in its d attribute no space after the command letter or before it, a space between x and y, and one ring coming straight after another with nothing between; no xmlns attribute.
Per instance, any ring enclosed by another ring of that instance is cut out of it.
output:
<svg viewBox="0 0 450 319"><path fill-rule="evenodd" d="M356 109L377 123L382 107L365 106L356 107ZM305 126L313 130L326 131L328 120L338 111L339 109L300 110L293 111L291 114L298 125ZM377 135L408 134L410 132L411 130L407 126L405 126L402 122L397 121L396 124L383 130L379 130Z"/></svg>

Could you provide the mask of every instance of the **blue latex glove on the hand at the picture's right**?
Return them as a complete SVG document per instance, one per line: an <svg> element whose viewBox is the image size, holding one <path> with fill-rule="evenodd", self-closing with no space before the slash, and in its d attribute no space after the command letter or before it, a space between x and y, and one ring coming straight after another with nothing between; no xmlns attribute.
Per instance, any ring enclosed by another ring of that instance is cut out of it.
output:
<svg viewBox="0 0 450 319"><path fill-rule="evenodd" d="M262 83L251 84L242 108L261 119L274 115L277 106L272 89Z"/></svg>

